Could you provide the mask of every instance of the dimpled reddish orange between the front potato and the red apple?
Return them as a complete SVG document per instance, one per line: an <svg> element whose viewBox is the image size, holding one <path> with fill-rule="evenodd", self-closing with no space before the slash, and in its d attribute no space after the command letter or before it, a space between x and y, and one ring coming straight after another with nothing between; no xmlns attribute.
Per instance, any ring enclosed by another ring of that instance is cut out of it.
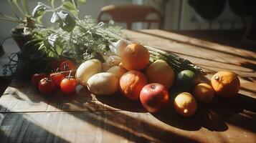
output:
<svg viewBox="0 0 256 143"><path fill-rule="evenodd" d="M141 89L148 83L146 76L140 72L131 70L120 77L120 91L131 100L139 99Z"/></svg>

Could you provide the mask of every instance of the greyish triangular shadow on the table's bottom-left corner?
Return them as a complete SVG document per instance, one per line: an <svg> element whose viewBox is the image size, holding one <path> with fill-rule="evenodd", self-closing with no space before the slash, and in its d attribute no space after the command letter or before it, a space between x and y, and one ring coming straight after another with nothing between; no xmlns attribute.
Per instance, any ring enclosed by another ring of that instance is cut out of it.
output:
<svg viewBox="0 0 256 143"><path fill-rule="evenodd" d="M0 109L3 109L0 105ZM20 113L0 113L0 140L4 142L67 142L29 121ZM44 140L42 140L44 139Z"/></svg>

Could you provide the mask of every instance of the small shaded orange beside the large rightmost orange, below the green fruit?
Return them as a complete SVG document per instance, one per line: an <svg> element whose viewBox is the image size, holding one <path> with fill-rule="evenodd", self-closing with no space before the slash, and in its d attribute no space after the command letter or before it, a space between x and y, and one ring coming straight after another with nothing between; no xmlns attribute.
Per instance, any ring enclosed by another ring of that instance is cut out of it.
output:
<svg viewBox="0 0 256 143"><path fill-rule="evenodd" d="M197 84L196 87L194 87L194 97L200 102L209 103L214 99L214 90L209 84Z"/></svg>

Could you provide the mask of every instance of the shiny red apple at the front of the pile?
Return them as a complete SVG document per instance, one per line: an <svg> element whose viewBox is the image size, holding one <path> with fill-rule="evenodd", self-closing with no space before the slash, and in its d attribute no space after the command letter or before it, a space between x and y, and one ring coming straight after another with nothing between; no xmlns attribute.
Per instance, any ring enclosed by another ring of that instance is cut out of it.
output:
<svg viewBox="0 0 256 143"><path fill-rule="evenodd" d="M169 93L162 84L146 84L140 93L141 104L151 113L161 111L169 102Z"/></svg>

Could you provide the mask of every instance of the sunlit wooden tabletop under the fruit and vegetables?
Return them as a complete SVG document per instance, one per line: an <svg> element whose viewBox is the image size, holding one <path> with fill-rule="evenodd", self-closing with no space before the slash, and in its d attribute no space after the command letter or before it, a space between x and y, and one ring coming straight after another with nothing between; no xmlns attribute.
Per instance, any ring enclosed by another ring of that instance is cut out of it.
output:
<svg viewBox="0 0 256 143"><path fill-rule="evenodd" d="M0 98L0 142L256 142L255 52L161 30L124 33L202 66L204 81L216 71L234 71L239 96L199 104L194 116L184 118L172 104L150 114L120 93L95 96L77 87L73 95L45 96L28 81L13 81Z"/></svg>

